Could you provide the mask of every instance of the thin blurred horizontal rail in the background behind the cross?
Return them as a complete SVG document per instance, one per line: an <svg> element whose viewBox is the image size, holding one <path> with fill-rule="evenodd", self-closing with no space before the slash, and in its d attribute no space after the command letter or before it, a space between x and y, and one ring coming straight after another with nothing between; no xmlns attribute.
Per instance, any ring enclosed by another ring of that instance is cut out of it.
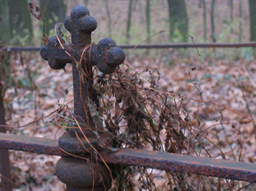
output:
<svg viewBox="0 0 256 191"><path fill-rule="evenodd" d="M137 45L118 45L122 49L132 49ZM157 48L242 48L242 47L256 47L256 42L243 42L243 43L171 43L171 44L141 44L136 48L139 49L157 49ZM3 51L39 51L40 47L10 47L2 48Z"/></svg>

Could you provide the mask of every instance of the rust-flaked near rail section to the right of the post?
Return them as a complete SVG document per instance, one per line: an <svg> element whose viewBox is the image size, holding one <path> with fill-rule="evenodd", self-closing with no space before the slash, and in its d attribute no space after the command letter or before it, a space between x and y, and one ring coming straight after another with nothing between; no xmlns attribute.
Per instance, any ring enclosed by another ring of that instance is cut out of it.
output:
<svg viewBox="0 0 256 191"><path fill-rule="evenodd" d="M104 151L101 152L101 155L108 163L151 167L152 169L201 174L247 182L256 181L256 165L253 163L137 149L119 149L116 153Z"/></svg>

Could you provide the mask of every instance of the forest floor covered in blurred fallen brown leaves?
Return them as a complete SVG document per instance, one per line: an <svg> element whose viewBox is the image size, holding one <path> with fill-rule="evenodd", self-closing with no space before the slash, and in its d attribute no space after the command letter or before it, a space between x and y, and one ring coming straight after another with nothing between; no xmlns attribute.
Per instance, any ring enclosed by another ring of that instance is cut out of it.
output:
<svg viewBox="0 0 256 191"><path fill-rule="evenodd" d="M214 59L204 55L199 57L196 54L182 56L182 51L168 49L154 57L131 54L125 64L135 70L148 66L155 80L158 76L154 68L157 68L161 78L156 81L156 89L193 98L194 100L184 99L186 111L191 120L199 116L200 128L207 130L208 139L219 146L226 159L255 163L255 124L243 117L256 118L254 60L246 56L236 60ZM58 140L65 130L55 126L53 120L56 114L29 126L18 129L15 126L23 126L48 115L56 110L59 104L68 103L73 99L70 65L66 67L66 72L55 71L48 67L46 61L40 59L38 53L17 53L12 57L11 65L13 85L6 91L5 107L7 124L14 128L9 128L8 131L17 135ZM196 69L192 71L194 67ZM192 81L197 87L200 85L201 95ZM68 94L63 98L65 89L68 89ZM198 100L205 103L198 107ZM72 108L72 103L69 107ZM238 144L239 141L242 145ZM204 146L211 152L212 157L221 159L220 151L212 143L205 142ZM64 184L55 176L55 165L59 158L10 151L12 178L18 187L14 190L65 190ZM165 190L165 173L154 171L152 177L155 178L157 190ZM134 179L134 182L140 185L137 176ZM242 181L235 181L235 184L236 189L244 186ZM223 188L226 186L223 183Z"/></svg>

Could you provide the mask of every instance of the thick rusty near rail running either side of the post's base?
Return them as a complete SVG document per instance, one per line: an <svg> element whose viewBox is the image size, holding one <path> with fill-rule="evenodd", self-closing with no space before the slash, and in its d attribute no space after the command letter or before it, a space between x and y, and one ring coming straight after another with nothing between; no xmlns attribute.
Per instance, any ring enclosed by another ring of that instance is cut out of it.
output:
<svg viewBox="0 0 256 191"><path fill-rule="evenodd" d="M47 155L67 156L59 149L54 139L28 137L0 133L0 148L28 151ZM226 161L223 159L195 157L173 153L161 153L140 149L114 149L116 151L101 151L105 162L152 169L200 174L231 180L247 182L256 181L256 165L253 163Z"/></svg>

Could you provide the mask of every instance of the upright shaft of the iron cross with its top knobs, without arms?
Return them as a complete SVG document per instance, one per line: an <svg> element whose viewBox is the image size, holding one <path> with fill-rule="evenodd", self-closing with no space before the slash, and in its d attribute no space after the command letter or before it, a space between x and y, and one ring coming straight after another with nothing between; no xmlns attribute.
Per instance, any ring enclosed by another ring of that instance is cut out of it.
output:
<svg viewBox="0 0 256 191"><path fill-rule="evenodd" d="M95 91L91 87L91 84L93 84L92 66L86 64L85 59L82 59L82 63L79 63L79 60L83 56L83 50L91 44L91 32L97 28L97 21L90 17L89 10L86 7L75 6L64 21L64 26L71 33L72 49L75 50L72 56L77 61L72 60L74 114L78 116L79 122L86 122L91 127L94 124L85 102L88 97L91 100L95 99ZM82 71L86 73L86 77ZM86 83L82 83L82 78L86 80Z"/></svg>

